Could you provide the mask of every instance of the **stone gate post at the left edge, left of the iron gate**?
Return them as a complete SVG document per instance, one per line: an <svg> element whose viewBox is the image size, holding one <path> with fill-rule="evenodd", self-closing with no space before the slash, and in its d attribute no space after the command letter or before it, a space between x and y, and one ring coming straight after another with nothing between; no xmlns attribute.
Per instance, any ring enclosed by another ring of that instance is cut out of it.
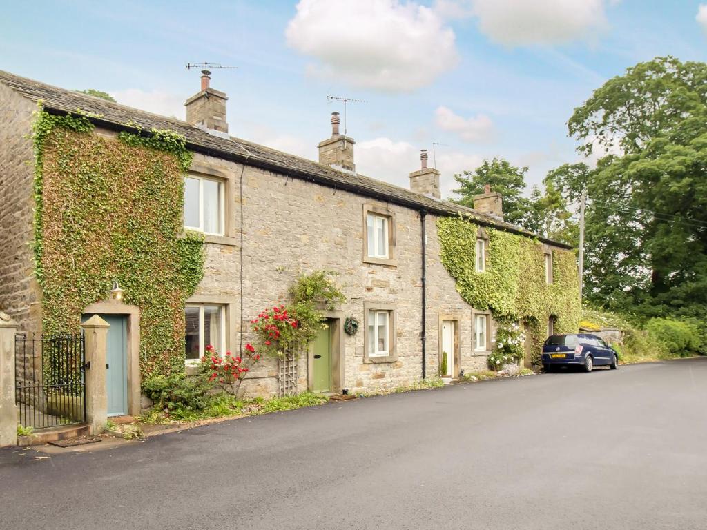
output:
<svg viewBox="0 0 707 530"><path fill-rule="evenodd" d="M17 445L15 403L16 322L0 311L0 447Z"/></svg>

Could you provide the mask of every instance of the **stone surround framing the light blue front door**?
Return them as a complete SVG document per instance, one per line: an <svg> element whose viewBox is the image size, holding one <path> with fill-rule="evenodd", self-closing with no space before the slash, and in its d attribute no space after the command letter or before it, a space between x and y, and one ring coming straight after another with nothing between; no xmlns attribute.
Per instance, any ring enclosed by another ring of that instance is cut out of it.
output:
<svg viewBox="0 0 707 530"><path fill-rule="evenodd" d="M83 314L115 314L127 317L127 393L129 416L140 415L140 308L122 302L87 305Z"/></svg>

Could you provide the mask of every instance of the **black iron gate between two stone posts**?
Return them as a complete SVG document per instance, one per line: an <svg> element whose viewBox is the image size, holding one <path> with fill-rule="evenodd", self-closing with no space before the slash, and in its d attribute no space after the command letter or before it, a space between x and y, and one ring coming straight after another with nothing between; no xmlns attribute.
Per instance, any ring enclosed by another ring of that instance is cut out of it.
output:
<svg viewBox="0 0 707 530"><path fill-rule="evenodd" d="M85 346L83 334L16 336L21 425L43 429L86 421Z"/></svg>

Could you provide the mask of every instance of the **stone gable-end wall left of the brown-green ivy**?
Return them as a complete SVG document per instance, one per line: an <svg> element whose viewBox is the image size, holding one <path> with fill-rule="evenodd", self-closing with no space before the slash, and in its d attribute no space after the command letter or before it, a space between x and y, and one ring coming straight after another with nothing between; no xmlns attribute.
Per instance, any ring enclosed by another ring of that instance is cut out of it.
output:
<svg viewBox="0 0 707 530"><path fill-rule="evenodd" d="M19 331L40 331L41 293L34 275L30 100L0 83L0 310Z"/></svg>

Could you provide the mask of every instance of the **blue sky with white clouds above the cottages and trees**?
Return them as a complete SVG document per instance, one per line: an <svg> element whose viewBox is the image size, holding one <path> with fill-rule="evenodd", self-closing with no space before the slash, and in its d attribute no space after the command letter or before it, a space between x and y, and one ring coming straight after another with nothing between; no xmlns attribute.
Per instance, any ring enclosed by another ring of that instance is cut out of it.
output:
<svg viewBox="0 0 707 530"><path fill-rule="evenodd" d="M707 60L692 0L0 0L0 69L184 119L199 69L233 136L317 159L327 95L354 98L356 170L408 186L419 150L452 175L501 156L529 187L581 160L566 122L592 90L656 56ZM434 153L432 153L434 149Z"/></svg>

